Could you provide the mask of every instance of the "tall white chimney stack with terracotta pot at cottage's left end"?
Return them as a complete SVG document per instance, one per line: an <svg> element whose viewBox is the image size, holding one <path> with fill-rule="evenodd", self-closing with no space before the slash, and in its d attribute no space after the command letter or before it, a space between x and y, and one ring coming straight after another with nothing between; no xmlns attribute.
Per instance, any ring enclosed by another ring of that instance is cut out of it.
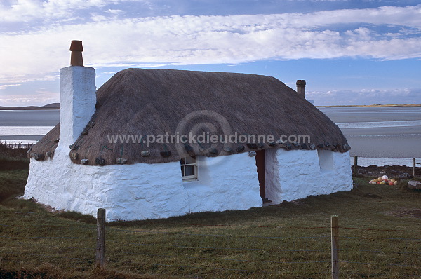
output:
<svg viewBox="0 0 421 279"><path fill-rule="evenodd" d="M82 42L72 41L71 66L60 69L60 145L68 147L95 113L95 69L83 67Z"/></svg>

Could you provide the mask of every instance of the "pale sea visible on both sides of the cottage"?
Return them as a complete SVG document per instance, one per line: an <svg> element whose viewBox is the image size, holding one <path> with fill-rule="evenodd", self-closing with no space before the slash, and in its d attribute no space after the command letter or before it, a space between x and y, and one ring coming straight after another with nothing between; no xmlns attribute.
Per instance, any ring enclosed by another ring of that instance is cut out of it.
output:
<svg viewBox="0 0 421 279"><path fill-rule="evenodd" d="M319 107L342 130L359 165L421 166L421 107ZM0 141L35 143L60 110L0 111Z"/></svg>

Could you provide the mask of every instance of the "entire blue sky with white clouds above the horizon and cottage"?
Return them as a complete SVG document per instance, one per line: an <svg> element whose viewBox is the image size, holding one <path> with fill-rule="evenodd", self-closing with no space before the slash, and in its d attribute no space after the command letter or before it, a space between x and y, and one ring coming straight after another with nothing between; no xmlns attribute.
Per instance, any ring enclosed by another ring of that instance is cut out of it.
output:
<svg viewBox="0 0 421 279"><path fill-rule="evenodd" d="M305 79L315 105L421 103L421 0L1 0L0 106L60 102L72 40L129 67Z"/></svg>

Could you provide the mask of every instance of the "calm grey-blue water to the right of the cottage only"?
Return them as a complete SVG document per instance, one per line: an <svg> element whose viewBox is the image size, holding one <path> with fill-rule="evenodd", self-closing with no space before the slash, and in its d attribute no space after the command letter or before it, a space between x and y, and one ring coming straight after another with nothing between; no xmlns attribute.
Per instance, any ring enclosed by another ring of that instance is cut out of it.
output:
<svg viewBox="0 0 421 279"><path fill-rule="evenodd" d="M319 108L341 128L351 156L421 157L420 107ZM418 160L421 163L421 160Z"/></svg>

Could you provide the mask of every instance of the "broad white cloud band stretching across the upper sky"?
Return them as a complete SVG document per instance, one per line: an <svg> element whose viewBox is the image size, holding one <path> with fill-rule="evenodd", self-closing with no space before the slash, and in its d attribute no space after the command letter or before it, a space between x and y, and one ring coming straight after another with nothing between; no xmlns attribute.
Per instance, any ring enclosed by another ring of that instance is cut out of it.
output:
<svg viewBox="0 0 421 279"><path fill-rule="evenodd" d="M40 2L35 0L17 2L16 8L23 11L32 6L40 7ZM65 13L76 3L81 8L88 8L101 7L105 2L50 0L43 2L41 10L48 14L54 10L51 7L55 7ZM421 57L421 37L415 32L421 31L420 13L421 5L315 13L174 15L125 20L92 13L91 22L0 34L0 64L7 66L0 69L0 83L45 79L47 74L57 73L60 67L69 63L68 48L72 39L83 41L84 60L86 65L93 67L236 64L257 60L359 56L382 60L417 58ZM345 25L348 28L344 29ZM411 36L407 36L408 30L412 30Z"/></svg>

